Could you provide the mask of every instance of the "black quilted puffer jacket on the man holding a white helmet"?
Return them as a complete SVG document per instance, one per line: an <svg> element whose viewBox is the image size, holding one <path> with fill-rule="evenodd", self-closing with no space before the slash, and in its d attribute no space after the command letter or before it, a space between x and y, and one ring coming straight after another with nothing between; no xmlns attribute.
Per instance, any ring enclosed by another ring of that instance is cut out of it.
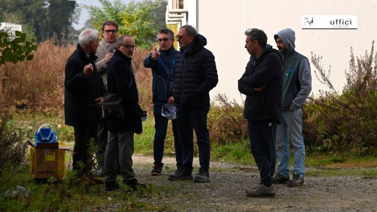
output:
<svg viewBox="0 0 377 212"><path fill-rule="evenodd" d="M215 56L204 46L207 39L197 34L194 43L175 56L170 94L180 108L210 106L210 90L217 82Z"/></svg>

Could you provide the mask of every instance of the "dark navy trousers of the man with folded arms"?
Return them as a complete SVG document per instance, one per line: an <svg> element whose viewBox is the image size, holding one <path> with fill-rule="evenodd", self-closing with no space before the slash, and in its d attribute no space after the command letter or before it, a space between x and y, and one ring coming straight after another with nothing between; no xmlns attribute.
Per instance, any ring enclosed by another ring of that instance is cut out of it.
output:
<svg viewBox="0 0 377 212"><path fill-rule="evenodd" d="M261 175L261 184L272 185L276 165L276 123L248 120L250 149Z"/></svg>

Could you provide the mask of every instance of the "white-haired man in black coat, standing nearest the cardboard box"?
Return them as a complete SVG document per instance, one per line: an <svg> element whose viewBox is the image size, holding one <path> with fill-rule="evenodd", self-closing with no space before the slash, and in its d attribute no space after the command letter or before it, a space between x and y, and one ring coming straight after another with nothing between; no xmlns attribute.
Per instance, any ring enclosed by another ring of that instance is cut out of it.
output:
<svg viewBox="0 0 377 212"><path fill-rule="evenodd" d="M97 124L102 116L106 89L95 64L98 45L98 31L83 30L76 51L65 65L64 117L65 124L73 126L75 131L74 170L79 170L78 161L86 164L89 139L96 139Z"/></svg>

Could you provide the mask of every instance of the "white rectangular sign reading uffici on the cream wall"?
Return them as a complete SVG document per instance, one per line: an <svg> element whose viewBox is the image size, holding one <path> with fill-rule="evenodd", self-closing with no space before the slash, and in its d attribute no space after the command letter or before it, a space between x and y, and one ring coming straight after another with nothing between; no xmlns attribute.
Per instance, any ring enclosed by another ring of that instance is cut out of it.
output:
<svg viewBox="0 0 377 212"><path fill-rule="evenodd" d="M353 15L303 15L301 28L357 29L357 16Z"/></svg>

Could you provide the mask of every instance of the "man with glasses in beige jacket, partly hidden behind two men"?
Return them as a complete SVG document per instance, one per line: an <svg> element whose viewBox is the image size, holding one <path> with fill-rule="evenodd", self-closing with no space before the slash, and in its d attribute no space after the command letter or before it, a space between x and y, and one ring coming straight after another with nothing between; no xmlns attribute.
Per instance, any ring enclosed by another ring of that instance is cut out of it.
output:
<svg viewBox="0 0 377 212"><path fill-rule="evenodd" d="M116 49L117 43L116 39L118 38L118 27L119 25L113 21L105 22L102 25L102 41L98 46L96 56L98 57L96 66L98 72L101 74L104 81L105 87L108 86L107 72L108 72L108 63L113 55L114 49ZM99 151L97 152L98 157L98 176L105 176L104 173L104 157L106 145L108 143L108 130L105 126L105 119L102 118L101 124L98 125L98 138L97 138L97 147ZM119 162L117 162L119 163ZM119 165L118 165L119 169Z"/></svg>

